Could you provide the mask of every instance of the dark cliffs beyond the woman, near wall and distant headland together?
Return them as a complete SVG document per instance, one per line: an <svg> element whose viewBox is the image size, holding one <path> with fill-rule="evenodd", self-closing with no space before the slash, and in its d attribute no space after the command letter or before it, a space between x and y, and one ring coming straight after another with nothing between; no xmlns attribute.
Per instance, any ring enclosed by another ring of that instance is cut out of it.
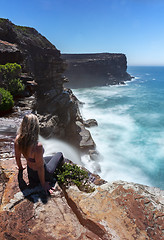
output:
<svg viewBox="0 0 164 240"><path fill-rule="evenodd" d="M83 122L77 99L63 87L66 63L53 44L33 28L0 19L0 63L6 62L21 63L24 75L33 77L37 83L34 110L42 136L59 137L82 149L95 147L88 130L77 122ZM123 54L85 54L78 58L69 55L65 74L72 87L116 84L130 78Z"/></svg>

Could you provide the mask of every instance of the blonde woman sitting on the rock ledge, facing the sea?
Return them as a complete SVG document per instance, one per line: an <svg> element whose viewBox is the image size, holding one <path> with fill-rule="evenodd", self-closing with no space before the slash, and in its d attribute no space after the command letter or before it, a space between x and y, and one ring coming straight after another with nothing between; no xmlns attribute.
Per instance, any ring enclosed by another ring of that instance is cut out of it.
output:
<svg viewBox="0 0 164 240"><path fill-rule="evenodd" d="M57 166L62 162L62 153L43 158L44 149L38 142L39 121L34 114L25 115L18 135L15 138L15 158L19 170L25 168L21 163L21 154L27 160L27 172L31 186L41 184L45 192L50 189L48 181L53 178L53 173Z"/></svg>

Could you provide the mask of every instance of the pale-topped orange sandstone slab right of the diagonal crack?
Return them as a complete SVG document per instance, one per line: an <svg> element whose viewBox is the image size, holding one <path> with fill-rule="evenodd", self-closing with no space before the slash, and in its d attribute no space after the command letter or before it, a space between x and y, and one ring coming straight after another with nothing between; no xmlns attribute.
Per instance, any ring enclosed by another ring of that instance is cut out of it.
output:
<svg viewBox="0 0 164 240"><path fill-rule="evenodd" d="M101 239L163 239L164 191L113 182L91 194L72 187L66 198L81 221L97 225Z"/></svg>

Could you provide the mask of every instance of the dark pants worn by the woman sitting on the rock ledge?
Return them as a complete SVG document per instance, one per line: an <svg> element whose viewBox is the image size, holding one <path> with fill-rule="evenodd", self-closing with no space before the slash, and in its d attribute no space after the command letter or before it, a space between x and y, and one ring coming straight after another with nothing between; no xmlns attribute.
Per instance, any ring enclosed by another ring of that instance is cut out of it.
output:
<svg viewBox="0 0 164 240"><path fill-rule="evenodd" d="M56 153L54 156L44 157L44 170L45 170L45 181L53 181L53 173L56 168L63 161L63 154L61 152ZM27 166L29 184L36 186L40 183L38 172Z"/></svg>

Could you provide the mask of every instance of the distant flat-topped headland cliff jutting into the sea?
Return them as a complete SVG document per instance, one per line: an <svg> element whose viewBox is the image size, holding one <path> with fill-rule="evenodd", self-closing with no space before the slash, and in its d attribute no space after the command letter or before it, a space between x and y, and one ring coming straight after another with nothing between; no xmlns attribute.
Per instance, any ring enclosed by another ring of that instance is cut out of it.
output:
<svg viewBox="0 0 164 240"><path fill-rule="evenodd" d="M119 84L130 80L124 54L62 54L71 88Z"/></svg>

